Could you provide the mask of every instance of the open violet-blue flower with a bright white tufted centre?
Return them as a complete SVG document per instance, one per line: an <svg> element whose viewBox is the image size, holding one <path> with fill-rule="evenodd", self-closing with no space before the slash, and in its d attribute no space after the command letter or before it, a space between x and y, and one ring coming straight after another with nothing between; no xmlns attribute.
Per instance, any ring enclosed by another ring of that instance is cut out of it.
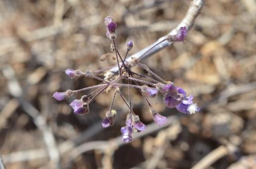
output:
<svg viewBox="0 0 256 169"><path fill-rule="evenodd" d="M189 95L184 98L184 100L176 106L176 109L185 114L194 114L200 110L196 103L193 103L193 96Z"/></svg>

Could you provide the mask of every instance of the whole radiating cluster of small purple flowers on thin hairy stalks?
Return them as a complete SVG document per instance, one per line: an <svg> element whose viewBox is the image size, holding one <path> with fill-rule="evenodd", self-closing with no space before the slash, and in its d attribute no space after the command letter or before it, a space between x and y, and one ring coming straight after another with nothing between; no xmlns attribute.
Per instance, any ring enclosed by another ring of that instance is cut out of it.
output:
<svg viewBox="0 0 256 169"><path fill-rule="evenodd" d="M110 105L109 111L106 112L104 119L102 120L102 127L110 127L114 124L116 110L113 109L113 104L116 95L119 94L124 104L128 107L129 113L127 113L125 126L121 128L122 139L124 142L132 141L132 133L140 132L145 130L146 126L140 121L138 115L136 115L132 109L131 101L131 88L137 88L140 90L144 100L150 108L150 113L157 125L163 125L166 122L166 117L160 115L151 105L148 98L153 98L158 94L158 92L163 94L163 102L168 108L176 108L181 113L193 114L199 111L199 107L196 103L193 103L193 96L186 95L186 92L181 88L174 85L172 82L166 82L150 70L146 65L140 63L141 55L138 59L133 60L133 65L138 65L145 69L151 77L140 75L131 70L131 63L127 62L125 59L129 52L133 48L133 42L127 42L127 51L124 57L121 57L117 50L117 45L115 42L117 24L114 22L113 17L108 16L104 19L104 25L106 27L106 37L112 41L113 52L115 52L115 60L117 61L118 73L115 76L102 79L101 75L108 74L108 71L112 67L103 68L93 73L83 73L81 70L67 69L66 74L71 79L77 79L79 77L91 77L97 79L101 82L99 85L90 86L82 88L79 90L67 90L66 92L55 92L53 97L58 100L64 100L73 95L74 93L94 89L90 94L83 95L80 100L74 100L70 106L74 109L76 114L87 114L89 113L89 104L102 92L109 92L111 89L115 90L113 99ZM181 27L176 35L168 35L164 40L167 41L184 41L186 37L187 29L186 27ZM159 42L158 44L160 44ZM158 45L157 44L157 45ZM156 45L155 45L156 46ZM154 47L155 47L154 46ZM152 49L154 48L152 47ZM152 50L151 49L151 50ZM105 76L106 77L106 76ZM126 82L126 83L124 83ZM128 101L122 94L120 88L127 87L129 89Z"/></svg>

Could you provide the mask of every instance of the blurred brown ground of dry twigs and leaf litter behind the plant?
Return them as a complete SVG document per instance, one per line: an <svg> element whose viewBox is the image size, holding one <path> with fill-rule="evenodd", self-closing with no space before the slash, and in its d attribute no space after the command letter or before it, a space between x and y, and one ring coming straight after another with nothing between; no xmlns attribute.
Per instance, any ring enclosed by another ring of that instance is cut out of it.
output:
<svg viewBox="0 0 256 169"><path fill-rule="evenodd" d="M114 105L115 125L103 129L111 94L99 95L84 116L69 106L81 94L61 102L52 98L55 91L98 84L70 80L67 68L115 64L111 57L100 61L111 53L105 16L117 22L119 52L132 40L134 54L177 27L190 2L1 0L0 154L6 168L191 168L206 155L209 167L197 169L256 168L254 0L206 1L186 42L142 61L193 94L203 108L197 114L165 108L159 94L151 102L169 125L157 127L139 91L132 90L134 111L150 127L122 144L128 110L121 100Z"/></svg>

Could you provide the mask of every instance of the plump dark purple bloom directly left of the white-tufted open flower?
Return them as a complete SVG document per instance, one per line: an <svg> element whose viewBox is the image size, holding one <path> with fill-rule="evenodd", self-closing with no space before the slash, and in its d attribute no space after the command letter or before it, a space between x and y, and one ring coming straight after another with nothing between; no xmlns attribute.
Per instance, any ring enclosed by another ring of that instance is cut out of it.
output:
<svg viewBox="0 0 256 169"><path fill-rule="evenodd" d="M163 101L166 107L175 108L178 106L183 98L186 96L185 90L180 87L175 87L174 85L169 87L166 94L164 95Z"/></svg>

